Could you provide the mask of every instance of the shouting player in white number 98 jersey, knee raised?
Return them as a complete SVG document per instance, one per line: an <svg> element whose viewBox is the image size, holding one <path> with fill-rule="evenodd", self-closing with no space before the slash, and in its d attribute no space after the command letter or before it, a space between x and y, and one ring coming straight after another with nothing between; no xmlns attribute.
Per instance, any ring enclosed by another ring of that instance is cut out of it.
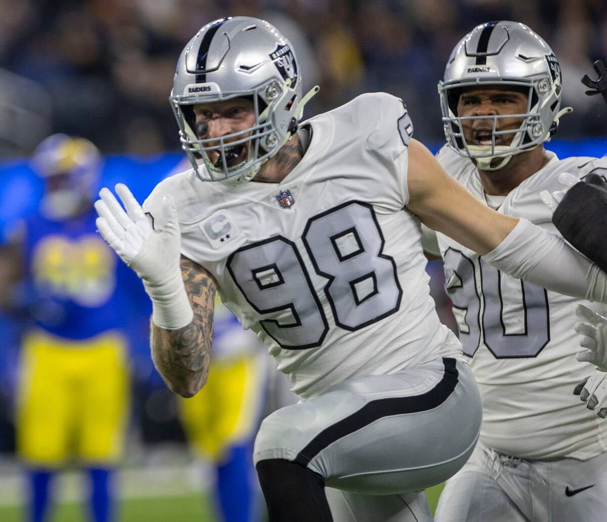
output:
<svg viewBox="0 0 607 522"><path fill-rule="evenodd" d="M422 490L467 460L481 403L429 296L420 221L560 292L607 301L607 275L473 198L412 139L398 98L299 124L300 75L267 22L205 25L170 98L193 169L143 209L102 189L98 229L143 279L172 390L205 384L215 292L288 376L301 400L265 418L254 449L271 522L431 520Z"/></svg>

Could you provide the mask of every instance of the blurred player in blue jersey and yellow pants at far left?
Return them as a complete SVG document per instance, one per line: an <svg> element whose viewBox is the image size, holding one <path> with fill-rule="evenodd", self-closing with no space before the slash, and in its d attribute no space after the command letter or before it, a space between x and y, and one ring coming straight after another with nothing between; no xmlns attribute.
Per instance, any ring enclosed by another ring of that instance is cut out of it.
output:
<svg viewBox="0 0 607 522"><path fill-rule="evenodd" d="M48 520L53 473L72 458L89 472L93 520L114 520L112 468L129 402L123 329L137 279L96 231L92 198L102 167L86 139L45 139L32 161L44 196L12 241L22 269L17 306L28 321L16 438L29 469L32 522Z"/></svg>

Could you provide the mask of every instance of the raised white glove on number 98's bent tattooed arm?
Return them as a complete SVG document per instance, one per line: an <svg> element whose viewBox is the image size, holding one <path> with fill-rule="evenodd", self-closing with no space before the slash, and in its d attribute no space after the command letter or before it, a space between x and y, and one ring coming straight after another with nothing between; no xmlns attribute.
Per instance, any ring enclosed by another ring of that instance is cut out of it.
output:
<svg viewBox="0 0 607 522"><path fill-rule="evenodd" d="M154 323L166 329L186 326L192 320L192 309L181 278L181 233L174 201L164 196L163 215L154 216L152 227L126 185L118 183L116 193L124 209L109 189L101 189L101 199L95 201L97 229L143 280L152 299Z"/></svg>

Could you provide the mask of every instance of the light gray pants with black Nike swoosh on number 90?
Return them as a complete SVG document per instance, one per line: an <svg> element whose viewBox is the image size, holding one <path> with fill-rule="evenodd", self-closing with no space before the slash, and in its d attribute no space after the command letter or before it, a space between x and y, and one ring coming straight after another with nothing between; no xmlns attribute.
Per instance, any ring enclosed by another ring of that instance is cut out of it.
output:
<svg viewBox="0 0 607 522"><path fill-rule="evenodd" d="M436 522L605 522L607 453L526 460L478 443L447 481Z"/></svg>

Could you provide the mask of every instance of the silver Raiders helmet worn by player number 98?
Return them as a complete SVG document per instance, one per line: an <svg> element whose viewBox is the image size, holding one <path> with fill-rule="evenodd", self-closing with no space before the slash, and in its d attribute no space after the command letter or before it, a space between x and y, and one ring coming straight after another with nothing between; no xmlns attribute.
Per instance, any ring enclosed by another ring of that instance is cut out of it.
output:
<svg viewBox="0 0 607 522"><path fill-rule="evenodd" d="M297 129L305 102L299 64L290 42L266 21L236 16L205 25L181 52L169 100L181 147L203 181L249 181ZM232 98L253 102L253 127L215 138L195 133L193 105ZM246 157L234 162L246 148ZM207 152L219 152L213 162ZM202 160L202 161L201 161ZM202 169L204 162L206 169Z"/></svg>

